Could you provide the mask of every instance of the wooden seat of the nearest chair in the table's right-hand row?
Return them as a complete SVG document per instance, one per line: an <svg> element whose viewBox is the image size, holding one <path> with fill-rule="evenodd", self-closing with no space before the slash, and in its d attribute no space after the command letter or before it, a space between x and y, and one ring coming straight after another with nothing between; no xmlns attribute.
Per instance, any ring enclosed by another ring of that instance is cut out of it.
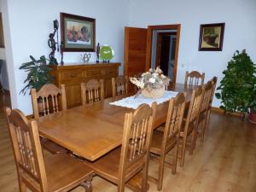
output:
<svg viewBox="0 0 256 192"><path fill-rule="evenodd" d="M107 178L112 183L118 183L119 179L119 160L121 154L121 147L113 149L108 154L104 155L99 160L90 162L88 160L84 160L84 164L90 166L96 174L101 177ZM129 154L129 153L128 153ZM125 172L125 181L128 181L131 177L133 177L137 172L140 172L143 169L143 159L138 160L136 166L141 164L135 169L135 165L130 165L126 169Z"/></svg>

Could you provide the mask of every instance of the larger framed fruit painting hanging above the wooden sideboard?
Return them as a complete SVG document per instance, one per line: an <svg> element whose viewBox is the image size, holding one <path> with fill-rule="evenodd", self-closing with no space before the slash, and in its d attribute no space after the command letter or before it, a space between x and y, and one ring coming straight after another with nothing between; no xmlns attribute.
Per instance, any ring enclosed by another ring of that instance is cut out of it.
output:
<svg viewBox="0 0 256 192"><path fill-rule="evenodd" d="M96 48L95 31L95 19L61 13L63 51L94 52Z"/></svg>

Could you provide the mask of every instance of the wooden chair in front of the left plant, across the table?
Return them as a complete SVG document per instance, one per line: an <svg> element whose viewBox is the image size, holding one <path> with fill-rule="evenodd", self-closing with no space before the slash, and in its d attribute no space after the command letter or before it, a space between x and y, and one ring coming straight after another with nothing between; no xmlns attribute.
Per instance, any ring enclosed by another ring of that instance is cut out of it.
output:
<svg viewBox="0 0 256 192"><path fill-rule="evenodd" d="M55 84L44 84L38 90L31 89L33 115L35 119L40 116L49 115L50 113L58 113L60 110L67 110L65 85L61 84L61 89ZM60 98L61 97L61 101ZM41 137L43 148L52 154L65 153L67 150L61 146Z"/></svg>

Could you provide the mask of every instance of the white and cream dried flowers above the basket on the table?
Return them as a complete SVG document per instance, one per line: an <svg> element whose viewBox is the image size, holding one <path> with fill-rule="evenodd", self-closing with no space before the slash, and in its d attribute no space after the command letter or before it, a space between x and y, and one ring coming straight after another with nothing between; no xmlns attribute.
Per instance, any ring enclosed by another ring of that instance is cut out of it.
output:
<svg viewBox="0 0 256 192"><path fill-rule="evenodd" d="M163 74L160 67L157 67L156 69L150 68L149 71L143 73L140 78L130 78L130 81L132 84L136 84L138 88L151 92L153 90L164 91L166 86L168 86L170 79Z"/></svg>

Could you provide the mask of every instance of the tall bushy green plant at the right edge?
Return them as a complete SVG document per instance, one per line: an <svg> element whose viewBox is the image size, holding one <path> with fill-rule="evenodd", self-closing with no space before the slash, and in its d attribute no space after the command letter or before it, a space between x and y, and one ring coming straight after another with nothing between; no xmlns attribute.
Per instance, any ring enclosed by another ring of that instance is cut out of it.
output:
<svg viewBox="0 0 256 192"><path fill-rule="evenodd" d="M225 112L241 112L243 117L248 113L253 117L256 111L256 67L246 50L241 53L236 50L228 67L223 72L224 79L221 80L215 96L222 100Z"/></svg>

